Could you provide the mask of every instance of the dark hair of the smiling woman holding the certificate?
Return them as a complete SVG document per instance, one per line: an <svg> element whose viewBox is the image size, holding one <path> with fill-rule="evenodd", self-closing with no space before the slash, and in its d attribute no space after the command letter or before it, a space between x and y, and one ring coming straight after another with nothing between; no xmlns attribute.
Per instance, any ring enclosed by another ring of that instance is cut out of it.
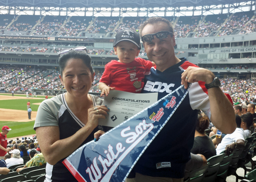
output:
<svg viewBox="0 0 256 182"><path fill-rule="evenodd" d="M59 63L60 76L62 76L62 72L65 69L68 60L72 58L81 59L83 63L87 66L87 68L89 68L91 74L93 75L94 71L91 66L91 57L85 51L71 50L65 54L62 54L59 57L58 63Z"/></svg>

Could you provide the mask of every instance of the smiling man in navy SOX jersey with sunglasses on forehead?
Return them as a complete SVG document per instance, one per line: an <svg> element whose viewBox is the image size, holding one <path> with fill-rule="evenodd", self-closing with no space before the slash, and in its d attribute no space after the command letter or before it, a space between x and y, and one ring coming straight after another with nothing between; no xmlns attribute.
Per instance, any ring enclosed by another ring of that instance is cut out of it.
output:
<svg viewBox="0 0 256 182"><path fill-rule="evenodd" d="M188 95L135 165L135 179L127 181L182 181L193 147L197 109L206 113L222 132L232 133L236 127L232 104L220 89L220 82L215 84L218 78L211 71L175 56L175 37L168 20L149 18L140 26L140 35L147 57L156 64L156 69L151 68L145 75L143 93L158 92L161 99L181 84L184 88L188 88L187 82L192 84Z"/></svg>

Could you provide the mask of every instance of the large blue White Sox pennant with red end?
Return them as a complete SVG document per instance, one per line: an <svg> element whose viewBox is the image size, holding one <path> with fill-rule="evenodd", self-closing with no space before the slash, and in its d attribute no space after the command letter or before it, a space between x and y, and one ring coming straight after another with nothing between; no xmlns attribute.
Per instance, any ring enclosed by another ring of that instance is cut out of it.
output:
<svg viewBox="0 0 256 182"><path fill-rule="evenodd" d="M183 85L71 154L63 164L79 182L124 181L188 91Z"/></svg>

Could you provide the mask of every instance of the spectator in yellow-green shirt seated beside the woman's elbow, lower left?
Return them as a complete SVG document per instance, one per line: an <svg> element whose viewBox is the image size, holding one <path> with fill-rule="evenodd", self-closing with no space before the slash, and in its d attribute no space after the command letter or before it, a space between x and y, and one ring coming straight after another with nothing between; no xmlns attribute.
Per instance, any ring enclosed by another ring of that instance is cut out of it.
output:
<svg viewBox="0 0 256 182"><path fill-rule="evenodd" d="M31 166L42 166L43 164L46 164L46 160L44 158L43 153L39 153L37 154L36 150L31 150L29 153L30 156L30 160L27 161L27 163L24 165L24 167L20 167L18 168L16 171L19 172L22 169L25 169L27 167L31 167Z"/></svg>

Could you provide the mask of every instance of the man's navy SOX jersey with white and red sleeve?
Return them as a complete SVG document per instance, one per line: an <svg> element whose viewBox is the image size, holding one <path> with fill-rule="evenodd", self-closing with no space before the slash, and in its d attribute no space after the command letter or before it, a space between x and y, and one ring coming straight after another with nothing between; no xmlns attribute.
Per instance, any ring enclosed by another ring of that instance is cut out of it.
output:
<svg viewBox="0 0 256 182"><path fill-rule="evenodd" d="M158 100L181 85L181 73L188 66L196 66L185 58L161 72L151 68L145 76L142 93L158 92ZM189 93L165 127L153 140L135 166L135 171L153 177L182 178L190 159L197 121L197 109L210 118L210 103L204 82L192 83Z"/></svg>

